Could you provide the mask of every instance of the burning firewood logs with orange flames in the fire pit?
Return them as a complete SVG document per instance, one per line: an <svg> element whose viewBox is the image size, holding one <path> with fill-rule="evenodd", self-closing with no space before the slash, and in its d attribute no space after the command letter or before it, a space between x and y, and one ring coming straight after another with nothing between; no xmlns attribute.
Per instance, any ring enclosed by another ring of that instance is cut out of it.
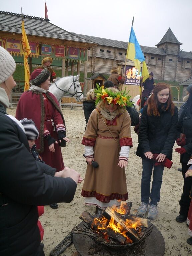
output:
<svg viewBox="0 0 192 256"><path fill-rule="evenodd" d="M148 220L130 214L131 206L132 202L123 203L120 207L107 207L97 217L83 212L80 219L84 221L85 228L78 234L87 233L93 240L107 246L127 246L142 241L150 234L150 230L146 230Z"/></svg>

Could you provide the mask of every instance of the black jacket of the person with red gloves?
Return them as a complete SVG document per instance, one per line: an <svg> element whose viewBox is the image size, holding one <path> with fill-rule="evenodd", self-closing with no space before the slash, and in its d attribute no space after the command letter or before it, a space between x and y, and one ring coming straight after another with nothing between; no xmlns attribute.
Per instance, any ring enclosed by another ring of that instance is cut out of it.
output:
<svg viewBox="0 0 192 256"><path fill-rule="evenodd" d="M182 106L182 112L177 125L177 138L180 137L180 133L184 133L186 136L186 144L183 148L186 149L186 153L180 157L181 163L188 163L192 154L192 113L187 108L186 103Z"/></svg>

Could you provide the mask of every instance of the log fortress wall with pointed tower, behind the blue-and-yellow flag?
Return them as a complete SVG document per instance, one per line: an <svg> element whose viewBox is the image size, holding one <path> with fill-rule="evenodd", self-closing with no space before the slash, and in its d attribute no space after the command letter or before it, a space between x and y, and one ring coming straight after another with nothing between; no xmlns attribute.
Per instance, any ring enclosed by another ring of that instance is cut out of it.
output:
<svg viewBox="0 0 192 256"><path fill-rule="evenodd" d="M127 42L87 35L81 38L97 45L88 50L88 72L110 74L112 66L125 61ZM192 52L180 49L180 43L169 28L157 47L142 46L145 60L154 78L166 81L183 81L192 76Z"/></svg>

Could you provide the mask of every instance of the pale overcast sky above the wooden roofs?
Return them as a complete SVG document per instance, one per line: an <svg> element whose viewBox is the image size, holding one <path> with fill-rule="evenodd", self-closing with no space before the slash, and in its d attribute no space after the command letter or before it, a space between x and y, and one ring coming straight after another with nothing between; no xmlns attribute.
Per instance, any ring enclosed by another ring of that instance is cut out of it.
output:
<svg viewBox="0 0 192 256"><path fill-rule="evenodd" d="M44 0L1 0L0 10L45 17ZM116 4L114 4L116 2ZM69 32L128 42L132 19L140 45L154 47L170 27L192 51L192 0L46 0L51 23Z"/></svg>

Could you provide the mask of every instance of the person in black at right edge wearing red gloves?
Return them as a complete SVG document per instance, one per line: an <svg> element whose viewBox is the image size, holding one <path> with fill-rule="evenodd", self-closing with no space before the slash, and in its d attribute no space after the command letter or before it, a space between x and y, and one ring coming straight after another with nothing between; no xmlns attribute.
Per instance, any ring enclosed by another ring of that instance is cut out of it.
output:
<svg viewBox="0 0 192 256"><path fill-rule="evenodd" d="M190 87L188 100L183 104L182 111L180 111L180 118L177 126L177 139L176 143L180 148L175 151L179 153L180 162L182 166L183 175L183 193L179 201L180 211L176 217L177 222L184 222L187 219L187 214L190 206L189 192L191 190L192 179L186 178L185 173L188 170L188 161L192 154L192 86Z"/></svg>

